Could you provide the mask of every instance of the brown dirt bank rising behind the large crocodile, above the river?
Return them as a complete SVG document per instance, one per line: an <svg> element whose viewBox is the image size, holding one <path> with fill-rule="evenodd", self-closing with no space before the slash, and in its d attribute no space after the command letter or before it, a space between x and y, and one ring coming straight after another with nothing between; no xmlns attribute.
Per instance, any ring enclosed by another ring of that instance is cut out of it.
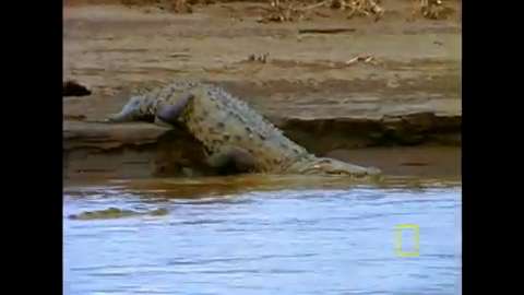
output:
<svg viewBox="0 0 524 295"><path fill-rule="evenodd" d="M63 98L67 177L200 167L198 143L182 131L82 121L117 111L135 86L174 79L223 85L319 154L368 148L361 161L373 162L371 146L460 146L460 2L441 21L407 21L410 1L389 0L378 22L323 9L310 21L269 24L258 22L267 4L255 1L196 5L189 14L120 3L64 4L64 79L92 92ZM312 28L340 33L300 33ZM249 58L266 54L265 62ZM372 62L353 62L358 56Z"/></svg>

